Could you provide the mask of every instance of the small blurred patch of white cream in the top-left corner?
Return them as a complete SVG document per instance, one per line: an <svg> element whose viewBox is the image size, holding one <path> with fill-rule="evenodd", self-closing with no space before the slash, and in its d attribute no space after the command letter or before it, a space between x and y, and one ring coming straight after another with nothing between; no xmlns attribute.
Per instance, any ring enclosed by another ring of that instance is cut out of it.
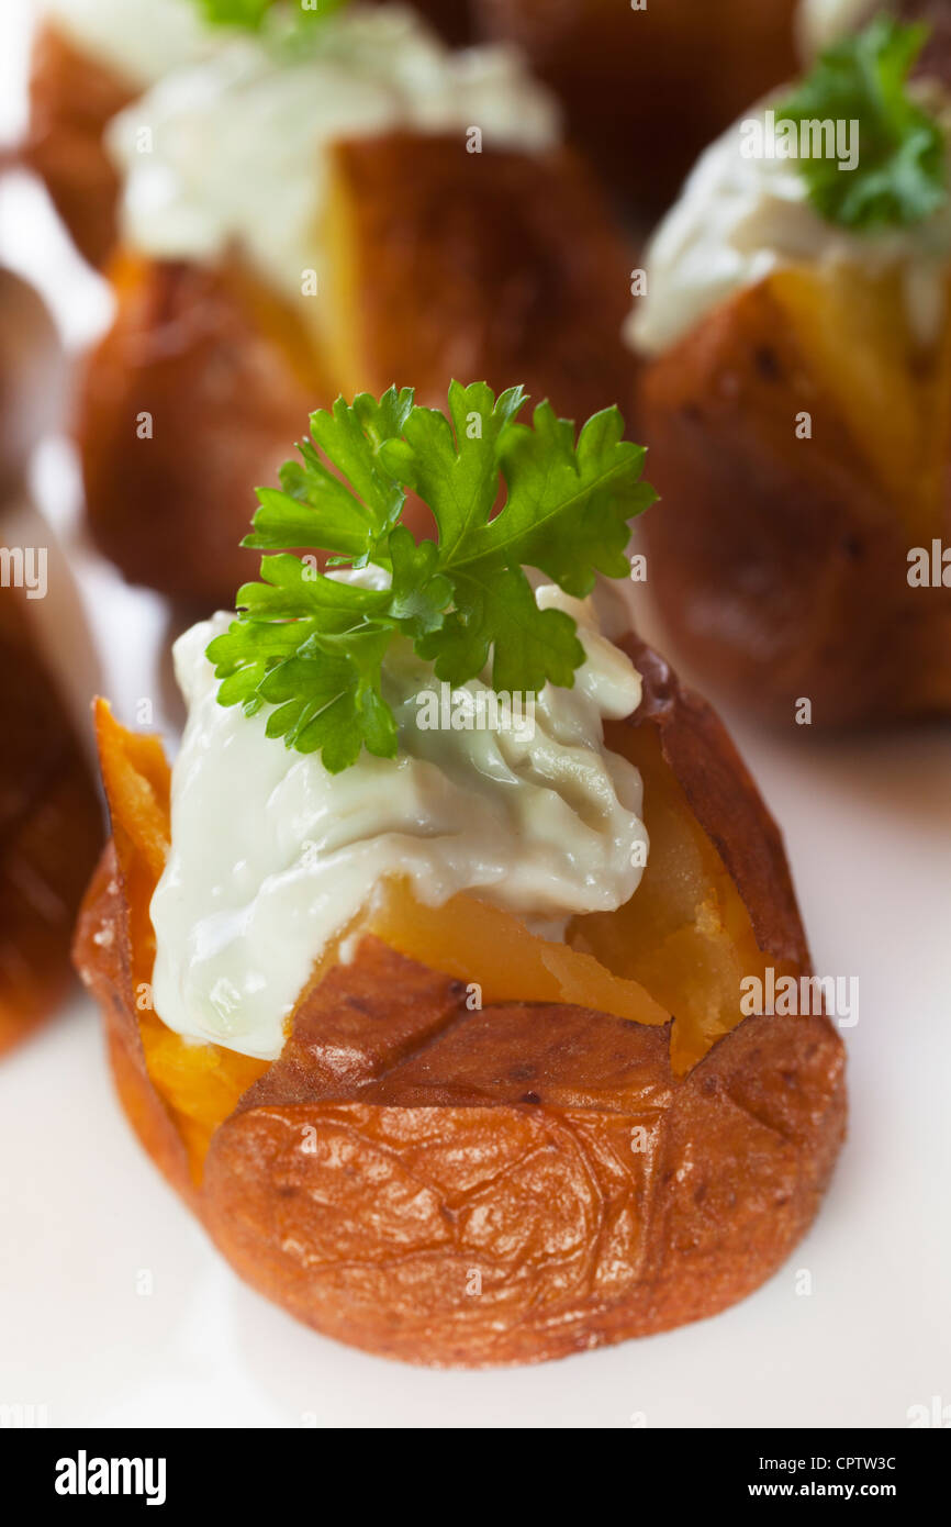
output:
<svg viewBox="0 0 951 1527"><path fill-rule="evenodd" d="M194 0L44 0L43 12L76 49L139 89L214 46Z"/></svg>

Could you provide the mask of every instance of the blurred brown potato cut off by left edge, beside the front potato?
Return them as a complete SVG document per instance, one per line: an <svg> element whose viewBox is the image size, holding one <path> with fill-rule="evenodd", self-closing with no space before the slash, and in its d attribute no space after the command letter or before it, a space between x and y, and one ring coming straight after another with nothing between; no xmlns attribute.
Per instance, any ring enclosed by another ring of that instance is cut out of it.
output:
<svg viewBox="0 0 951 1527"><path fill-rule="evenodd" d="M70 980L73 922L102 846L102 808L17 589L0 589L0 1054Z"/></svg>

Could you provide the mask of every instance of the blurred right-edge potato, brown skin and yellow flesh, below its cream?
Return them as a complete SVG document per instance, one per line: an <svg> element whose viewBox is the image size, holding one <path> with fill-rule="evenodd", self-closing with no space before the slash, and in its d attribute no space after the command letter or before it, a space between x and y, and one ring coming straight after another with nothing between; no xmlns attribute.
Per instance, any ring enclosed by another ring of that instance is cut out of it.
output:
<svg viewBox="0 0 951 1527"><path fill-rule="evenodd" d="M924 354L898 279L846 266L777 272L644 365L649 576L699 673L775 724L951 715L951 570L910 583L949 544L949 418L951 328Z"/></svg>

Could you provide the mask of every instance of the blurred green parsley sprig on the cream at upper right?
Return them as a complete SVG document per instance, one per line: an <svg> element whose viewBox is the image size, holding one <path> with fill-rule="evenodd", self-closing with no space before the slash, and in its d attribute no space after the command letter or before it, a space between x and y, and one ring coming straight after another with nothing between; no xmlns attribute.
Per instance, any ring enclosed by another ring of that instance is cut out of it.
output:
<svg viewBox="0 0 951 1527"><path fill-rule="evenodd" d="M821 53L777 105L777 119L859 124L855 169L840 171L827 157L798 160L809 200L829 223L858 232L908 228L945 203L945 134L908 92L927 38L927 26L879 15Z"/></svg>

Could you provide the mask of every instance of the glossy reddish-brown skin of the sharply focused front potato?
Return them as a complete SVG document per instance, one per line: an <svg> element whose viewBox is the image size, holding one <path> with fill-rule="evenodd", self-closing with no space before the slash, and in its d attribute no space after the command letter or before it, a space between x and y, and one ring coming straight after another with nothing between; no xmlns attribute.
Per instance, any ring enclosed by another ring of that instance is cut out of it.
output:
<svg viewBox="0 0 951 1527"><path fill-rule="evenodd" d="M646 698L627 725L656 728L759 899L759 936L806 971L782 840L722 727L662 660L630 652ZM139 1138L247 1283L368 1351L540 1362L713 1315L804 1232L844 1135L824 1017L746 1019L676 1080L667 1028L579 1006L470 1012L459 982L366 938L301 1003L194 1190L136 1046L127 927L110 849L76 960Z"/></svg>

